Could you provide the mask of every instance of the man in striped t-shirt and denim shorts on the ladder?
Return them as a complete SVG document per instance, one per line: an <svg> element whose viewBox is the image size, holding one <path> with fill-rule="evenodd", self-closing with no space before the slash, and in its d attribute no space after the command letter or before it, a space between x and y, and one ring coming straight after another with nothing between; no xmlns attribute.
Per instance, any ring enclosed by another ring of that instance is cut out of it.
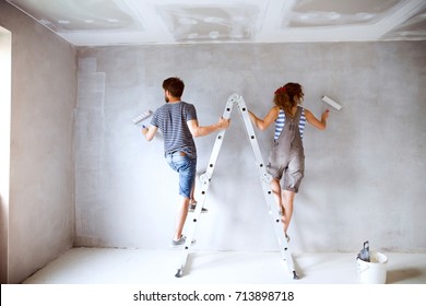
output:
<svg viewBox="0 0 426 306"><path fill-rule="evenodd" d="M164 154L169 166L179 173L179 195L181 202L176 217L173 245L184 245L185 221L192 199L197 172L197 149L194 137L203 137L229 127L229 119L221 118L217 123L199 126L197 110L192 104L181 101L185 84L179 78L168 78L163 82L166 104L155 110L150 128L142 133L147 141L159 129L164 137Z"/></svg>

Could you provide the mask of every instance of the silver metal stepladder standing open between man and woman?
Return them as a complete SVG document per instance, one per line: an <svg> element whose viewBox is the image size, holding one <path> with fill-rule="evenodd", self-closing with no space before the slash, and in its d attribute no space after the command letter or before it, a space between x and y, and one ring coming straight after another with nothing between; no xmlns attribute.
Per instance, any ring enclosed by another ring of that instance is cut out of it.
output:
<svg viewBox="0 0 426 306"><path fill-rule="evenodd" d="M298 279L298 275L296 273L295 264L293 261L293 256L292 256L292 252L289 250L288 242L287 242L286 235L285 235L284 229L283 229L283 223L281 222L280 209L275 204L274 195L273 195L272 189L271 189L272 177L267 172L265 164L263 163L261 150L260 150L260 146L259 146L259 143L258 143L255 130L253 130L253 126L251 123L251 120L250 120L250 117L248 114L246 102L244 101L242 96L240 96L238 94L233 94L228 97L228 99L226 102L225 110L223 113L223 118L229 119L230 114L232 114L234 108L238 108L239 114L241 115L241 118L242 118L242 121L244 121L244 125L245 125L245 128L247 131L247 137L248 137L248 140L250 141L250 144L251 144L251 149L252 149L253 156L255 156L256 167L259 172L260 184L261 184L261 187L263 190L263 196L265 198L268 212L271 215L272 225L274 227L274 233L275 233L275 236L276 236L276 239L279 243L281 257L286 262L291 275L293 276L293 279L296 280L296 279ZM203 173L200 176L200 181L201 181L200 199L199 199L199 202L196 207L194 212L189 214L187 217L187 222L189 222L188 232L187 232L187 239L185 243L184 250L181 252L180 263L179 263L179 267L177 269L177 273L175 275L176 278L181 278L185 273L188 272L187 267L186 267L187 261L188 261L188 257L190 256L191 247L192 247L193 242L194 242L197 226L198 226L198 223L200 222L200 216L201 216L201 212L202 212L202 209L204 207L204 203L205 203L208 190L209 190L210 185L213 181L213 174L214 174L214 169L216 166L217 156L221 152L222 143L223 143L224 138L225 138L225 133L226 133L226 130L222 130L217 133L216 140L215 140L214 145L213 145L213 150L212 150L212 153L211 153L211 156L209 160L206 170L205 170L205 173Z"/></svg>

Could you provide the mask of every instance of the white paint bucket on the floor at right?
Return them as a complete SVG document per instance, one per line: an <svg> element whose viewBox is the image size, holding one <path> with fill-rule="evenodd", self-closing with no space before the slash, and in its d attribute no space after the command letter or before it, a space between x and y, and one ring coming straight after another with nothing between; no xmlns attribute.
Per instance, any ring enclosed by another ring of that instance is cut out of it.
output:
<svg viewBox="0 0 426 306"><path fill-rule="evenodd" d="M384 284L388 258L384 254L370 251L370 261L356 259L358 280L362 284Z"/></svg>

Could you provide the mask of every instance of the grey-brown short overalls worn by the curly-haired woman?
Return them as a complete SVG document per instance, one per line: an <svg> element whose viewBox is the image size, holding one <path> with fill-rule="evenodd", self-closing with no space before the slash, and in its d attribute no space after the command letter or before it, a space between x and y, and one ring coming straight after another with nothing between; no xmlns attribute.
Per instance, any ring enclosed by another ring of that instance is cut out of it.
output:
<svg viewBox="0 0 426 306"><path fill-rule="evenodd" d="M299 131L303 108L297 107L295 116L285 116L284 128L269 156L268 172L281 180L282 189L297 192L305 173L304 144Z"/></svg>

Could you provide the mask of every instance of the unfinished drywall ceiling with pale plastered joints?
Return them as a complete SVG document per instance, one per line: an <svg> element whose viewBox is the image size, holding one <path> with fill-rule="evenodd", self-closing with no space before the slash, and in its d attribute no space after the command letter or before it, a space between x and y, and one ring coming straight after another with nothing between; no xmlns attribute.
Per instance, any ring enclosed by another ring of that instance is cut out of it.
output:
<svg viewBox="0 0 426 306"><path fill-rule="evenodd" d="M424 0L7 0L76 46L426 39Z"/></svg>

